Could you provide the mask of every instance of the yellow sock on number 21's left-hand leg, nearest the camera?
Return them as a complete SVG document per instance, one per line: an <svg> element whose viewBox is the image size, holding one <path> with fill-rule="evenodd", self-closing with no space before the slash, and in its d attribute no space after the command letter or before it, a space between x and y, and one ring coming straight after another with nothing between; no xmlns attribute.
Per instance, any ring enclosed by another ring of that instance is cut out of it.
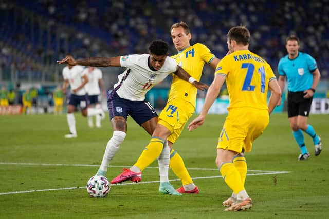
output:
<svg viewBox="0 0 329 219"><path fill-rule="evenodd" d="M227 162L221 165L220 171L225 183L233 190L235 194L245 190L239 172L234 167L233 163Z"/></svg>

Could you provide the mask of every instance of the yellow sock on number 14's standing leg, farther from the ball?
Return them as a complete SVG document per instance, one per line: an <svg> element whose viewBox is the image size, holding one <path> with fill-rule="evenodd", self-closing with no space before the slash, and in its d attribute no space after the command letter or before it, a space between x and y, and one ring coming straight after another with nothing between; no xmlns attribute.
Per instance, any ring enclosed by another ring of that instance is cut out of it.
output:
<svg viewBox="0 0 329 219"><path fill-rule="evenodd" d="M184 161L173 148L170 150L169 167L173 170L175 175L180 178L183 185L193 183L192 178L185 167Z"/></svg>

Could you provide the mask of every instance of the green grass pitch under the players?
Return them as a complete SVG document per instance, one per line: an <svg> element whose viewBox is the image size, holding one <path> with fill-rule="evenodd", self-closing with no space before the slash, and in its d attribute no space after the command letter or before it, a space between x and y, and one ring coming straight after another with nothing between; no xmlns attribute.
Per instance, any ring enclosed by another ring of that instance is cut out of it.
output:
<svg viewBox="0 0 329 219"><path fill-rule="evenodd" d="M308 161L297 161L300 150L287 115L271 116L246 154L245 186L254 202L246 212L225 212L222 207L231 191L219 177L215 156L225 115L208 115L202 127L185 129L175 143L200 189L199 194L182 196L160 195L159 184L152 183L159 178L158 169L148 168L139 184L113 185L107 197L89 197L85 186L98 170L112 128L108 117L101 129L88 128L80 114L76 120L78 138L65 139L65 114L0 116L0 218L329 217L329 115L310 115L323 151L314 156L312 140L305 135ZM135 163L149 138L129 118L126 139L108 169L109 180ZM157 167L157 162L151 166ZM181 186L171 170L169 178L175 188Z"/></svg>

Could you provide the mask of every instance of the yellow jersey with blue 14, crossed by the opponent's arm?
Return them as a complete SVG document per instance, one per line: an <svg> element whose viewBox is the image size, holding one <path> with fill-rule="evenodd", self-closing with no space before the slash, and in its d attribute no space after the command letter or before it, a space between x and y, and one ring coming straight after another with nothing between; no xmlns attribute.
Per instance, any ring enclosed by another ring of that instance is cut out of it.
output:
<svg viewBox="0 0 329 219"><path fill-rule="evenodd" d="M197 43L190 46L178 54L171 56L177 62L177 65L187 71L197 81L200 81L205 63L210 63L215 55L210 52L208 47ZM168 101L175 98L185 99L195 107L197 88L191 83L181 80L173 74L173 82L170 87Z"/></svg>

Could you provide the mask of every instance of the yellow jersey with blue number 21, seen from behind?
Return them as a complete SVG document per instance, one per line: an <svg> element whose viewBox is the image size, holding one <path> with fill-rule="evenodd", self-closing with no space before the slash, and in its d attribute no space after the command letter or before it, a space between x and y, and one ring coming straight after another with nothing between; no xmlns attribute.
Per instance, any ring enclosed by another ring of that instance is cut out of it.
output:
<svg viewBox="0 0 329 219"><path fill-rule="evenodd" d="M249 50L235 51L218 63L217 74L226 76L228 110L235 107L268 109L268 83L276 77L263 58Z"/></svg>

